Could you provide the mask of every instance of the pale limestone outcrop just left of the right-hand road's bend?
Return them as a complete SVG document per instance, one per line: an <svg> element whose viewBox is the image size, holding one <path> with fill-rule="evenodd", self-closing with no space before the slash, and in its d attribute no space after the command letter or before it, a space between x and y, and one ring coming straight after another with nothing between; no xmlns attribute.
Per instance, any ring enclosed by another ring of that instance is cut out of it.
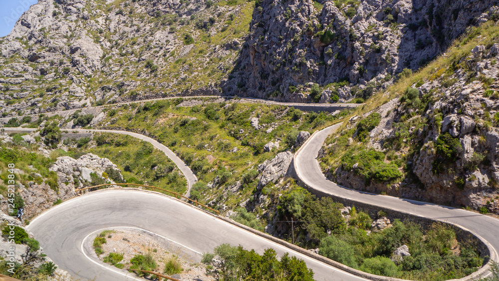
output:
<svg viewBox="0 0 499 281"><path fill-rule="evenodd" d="M261 173L258 187L264 187L269 182L275 182L280 177L287 174L289 165L293 160L293 154L289 151L275 155L274 159L258 165L258 172Z"/></svg>

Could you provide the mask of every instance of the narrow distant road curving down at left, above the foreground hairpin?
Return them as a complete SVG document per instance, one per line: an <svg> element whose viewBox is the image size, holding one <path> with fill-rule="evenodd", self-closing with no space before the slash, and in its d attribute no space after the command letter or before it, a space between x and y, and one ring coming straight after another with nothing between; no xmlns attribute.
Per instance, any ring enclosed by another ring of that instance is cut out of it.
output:
<svg viewBox="0 0 499 281"><path fill-rule="evenodd" d="M10 127L4 127L3 129L5 130L5 132L8 132L8 131L33 132L35 130L38 130L38 129L35 129L35 128L10 128ZM156 141L156 140L154 140L154 139L152 139L150 137L146 137L144 135L137 134L137 133L127 132L127 131L117 131L117 130L69 129L69 130L64 130L64 131L68 131L68 132L80 132L80 133L83 133L83 132L92 132L92 133L123 134L123 135L129 135L129 136L132 136L132 137L135 137L135 138L147 141L150 144L154 145L154 147L156 147L157 149L163 151L165 153L165 155L168 158L170 158L173 161L173 163L175 163L175 165L177 165L177 167L179 168L179 170L184 174L184 176L187 179L187 185L188 185L187 186L187 191L184 194L185 197L189 197L191 195L192 185L195 184L198 181L198 178L196 177L196 175L191 171L191 169L189 168L189 166L187 166L186 163L184 163L184 161L182 161L182 159L180 159L168 147L164 146L163 144L159 143L158 141Z"/></svg>

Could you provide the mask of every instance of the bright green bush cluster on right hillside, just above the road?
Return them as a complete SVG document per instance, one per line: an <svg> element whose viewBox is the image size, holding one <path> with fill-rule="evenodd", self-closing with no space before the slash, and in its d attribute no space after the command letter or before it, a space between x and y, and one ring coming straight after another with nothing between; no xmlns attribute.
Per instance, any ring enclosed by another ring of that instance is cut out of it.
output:
<svg viewBox="0 0 499 281"><path fill-rule="evenodd" d="M382 183L402 176L393 161L385 163L384 160L385 154L372 148L361 151L353 148L341 158L343 169L352 170L354 165L357 165L355 173L362 175L366 183L370 183L371 180Z"/></svg>

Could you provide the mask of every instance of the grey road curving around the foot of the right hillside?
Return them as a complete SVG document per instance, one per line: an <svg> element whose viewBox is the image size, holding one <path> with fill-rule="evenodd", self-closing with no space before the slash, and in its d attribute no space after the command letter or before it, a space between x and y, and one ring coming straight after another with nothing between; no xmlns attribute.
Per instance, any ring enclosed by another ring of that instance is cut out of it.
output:
<svg viewBox="0 0 499 281"><path fill-rule="evenodd" d="M493 248L491 260L499 262L496 250L499 249L498 219L447 206L359 192L329 181L322 173L316 158L326 138L340 126L341 123L315 132L295 153L294 169L304 184L321 193L461 226L487 241Z"/></svg>

